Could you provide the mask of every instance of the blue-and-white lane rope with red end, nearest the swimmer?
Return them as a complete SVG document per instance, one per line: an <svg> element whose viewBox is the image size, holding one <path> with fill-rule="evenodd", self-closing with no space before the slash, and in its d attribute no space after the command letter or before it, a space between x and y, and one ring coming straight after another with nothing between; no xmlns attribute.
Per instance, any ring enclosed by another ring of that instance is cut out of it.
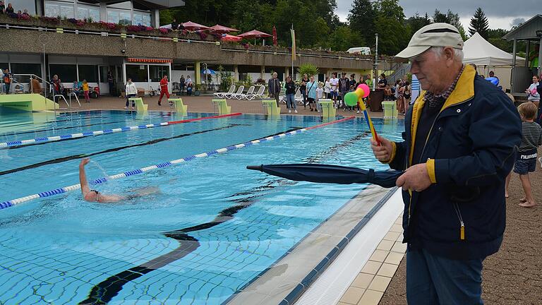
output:
<svg viewBox="0 0 542 305"><path fill-rule="evenodd" d="M324 127L324 126L327 126L327 125L330 125L330 124L337 124L337 123L341 123L341 122L344 122L344 121L348 121L348 120L351 120L351 119L354 119L354 118L355 118L355 116L349 116L349 117L344 118L344 119L339 119L337 121L332 121L332 122L328 122L328 123L324 123L324 124L318 124L318 125L311 126L311 127L308 127L308 128L311 128L311 129L320 128L320 127ZM181 162L188 162L188 161L191 161L191 160L195 160L197 158L209 157L211 155L217 155L219 153L229 152L230 150L237 150L237 149L244 148L244 147L247 147L247 146L251 146L251 145L254 145L254 144L262 143L262 142L265 142L265 141L268 141L268 140L275 140L275 138L284 138L285 136L292 136L292 135L294 135L296 133L303 133L303 132L309 130L308 128L301 128L301 129L298 129L296 131L289 131L287 133L280 133L280 134L275 135L275 136L268 136L266 138L260 138L258 140L251 140L251 141L248 141L248 142L245 142L245 143L239 143L239 144L236 144L236 145L231 145L231 146L228 146L226 148L219 148L217 150L210 150L208 152L203 152L203 153L200 153L198 155L191 155L191 156L188 156L188 157L183 157L181 159L171 160L169 162L163 162L163 163L159 163L157 165L151 165L149 167L143 167L141 169L135 169L135 170L131 170L131 171L128 171L128 172L115 174L115 175L109 176L109 177L102 177L100 179L96 179L94 181L91 181L90 184L91 185L102 184L102 183L104 183L104 182L106 182L108 180L124 178L124 177L128 177L128 176L133 176L133 175L136 175L136 174L143 174L144 172L149 172L149 171L154 170L154 169L169 167L171 165L179 164ZM58 194L61 194L61 193L66 193L67 191L75 191L77 189L80 189L80 187L81 187L80 184L74 184L74 185L71 185L71 186L64 186L62 188L54 189L54 190L51 190L51 191L44 191L44 192L41 192L41 193L36 193L36 194L33 194L33 195L29 195L29 196L25 196L25 197L21 197L21 198L16 198L16 199L11 199L9 201L4 201L4 202L0 203L0 210L4 209L4 208L9 208L9 207L11 207L13 205L18 205L19 203L23 203L23 202L26 202L26 201L31 201L33 199L54 196L54 195L58 195Z"/></svg>

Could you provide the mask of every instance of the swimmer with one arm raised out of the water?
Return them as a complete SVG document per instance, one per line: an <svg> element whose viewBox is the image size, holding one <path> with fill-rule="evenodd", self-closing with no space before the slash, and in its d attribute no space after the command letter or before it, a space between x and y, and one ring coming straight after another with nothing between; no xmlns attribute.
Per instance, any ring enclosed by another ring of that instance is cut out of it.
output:
<svg viewBox="0 0 542 305"><path fill-rule="evenodd" d="M116 203L119 201L128 201L141 196L150 195L152 193L159 193L159 189L152 187L140 189L138 193L128 196L107 195L96 190L91 190L88 186L87 174L85 173L85 165L88 165L88 162L90 162L90 158L84 158L79 164L79 183L81 184L81 193L83 193L83 198L85 198L85 201L97 203Z"/></svg>

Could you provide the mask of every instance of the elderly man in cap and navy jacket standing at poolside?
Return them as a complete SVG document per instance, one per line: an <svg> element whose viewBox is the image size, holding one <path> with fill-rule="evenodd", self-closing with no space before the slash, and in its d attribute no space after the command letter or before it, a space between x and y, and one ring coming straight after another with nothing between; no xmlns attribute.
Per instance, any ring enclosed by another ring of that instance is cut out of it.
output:
<svg viewBox="0 0 542 305"><path fill-rule="evenodd" d="M406 113L404 141L371 142L402 169L406 298L409 304L483 304L482 262L505 231L505 177L522 138L504 92L464 66L454 26L427 25L397 54L410 59L420 97Z"/></svg>

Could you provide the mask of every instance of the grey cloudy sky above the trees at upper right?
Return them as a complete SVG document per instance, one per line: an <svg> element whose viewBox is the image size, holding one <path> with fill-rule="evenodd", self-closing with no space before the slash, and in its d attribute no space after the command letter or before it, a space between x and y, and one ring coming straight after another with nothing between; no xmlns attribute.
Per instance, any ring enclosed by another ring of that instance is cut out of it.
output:
<svg viewBox="0 0 542 305"><path fill-rule="evenodd" d="M467 30L471 17L476 8L481 7L486 13L489 28L510 29L512 25L529 20L536 14L537 6L541 0L399 0L403 7L406 18L416 12L420 15L426 12L433 16L435 8L446 12L450 8L454 13L459 13L463 28ZM351 8L351 0L337 0L337 15L342 21L347 20Z"/></svg>

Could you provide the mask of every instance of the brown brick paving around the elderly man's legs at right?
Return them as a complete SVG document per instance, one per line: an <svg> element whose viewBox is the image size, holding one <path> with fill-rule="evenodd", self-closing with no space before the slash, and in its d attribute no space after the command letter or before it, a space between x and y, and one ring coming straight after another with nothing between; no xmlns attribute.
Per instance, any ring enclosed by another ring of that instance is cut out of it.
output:
<svg viewBox="0 0 542 305"><path fill-rule="evenodd" d="M538 155L542 150L538 149ZM512 174L510 198L507 199L506 231L498 253L486 258L483 265L482 298L486 304L542 304L542 169L530 175L534 208L522 208L522 183ZM403 261L392 278L380 305L406 305L406 264Z"/></svg>

